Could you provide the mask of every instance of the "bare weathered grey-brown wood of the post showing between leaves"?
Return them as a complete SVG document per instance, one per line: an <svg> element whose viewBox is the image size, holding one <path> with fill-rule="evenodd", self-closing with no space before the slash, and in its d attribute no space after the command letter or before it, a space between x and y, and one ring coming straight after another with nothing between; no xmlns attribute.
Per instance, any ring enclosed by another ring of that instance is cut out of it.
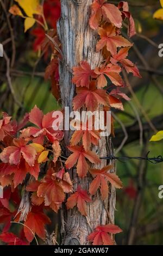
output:
<svg viewBox="0 0 163 256"><path fill-rule="evenodd" d="M77 66L81 60L87 60L91 68L99 66L102 61L101 53L96 53L97 33L89 27L90 5L92 0L61 0L61 18L58 22L58 34L62 44L62 53L64 59L60 62L60 90L62 106L70 107L72 111L72 99L75 93L75 86L72 84L72 66ZM72 132L65 132L64 148L70 143ZM106 156L111 150L111 144L107 142L107 138L103 137L99 147L93 148L99 156ZM68 156L68 151L65 150ZM107 163L102 161L103 167ZM115 172L115 168L112 169ZM71 178L73 180L74 191L78 185L85 190L89 190L92 181L90 175L84 179L79 179L76 170L71 170ZM64 245L85 245L86 237L99 224L108 223L108 214L105 208L109 210L109 215L114 222L115 209L115 190L110 187L110 196L105 202L97 193L92 197L92 203L87 205L87 220L82 216L76 208L61 211L62 215L62 244Z"/></svg>

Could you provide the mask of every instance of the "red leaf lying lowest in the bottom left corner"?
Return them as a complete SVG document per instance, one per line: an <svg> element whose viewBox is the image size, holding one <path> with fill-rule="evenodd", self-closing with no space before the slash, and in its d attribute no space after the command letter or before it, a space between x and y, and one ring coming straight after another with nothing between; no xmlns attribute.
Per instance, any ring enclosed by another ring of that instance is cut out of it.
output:
<svg viewBox="0 0 163 256"><path fill-rule="evenodd" d="M20 239L20 237L16 236L13 233L0 234L0 240L8 243L8 245L29 245L27 241Z"/></svg>

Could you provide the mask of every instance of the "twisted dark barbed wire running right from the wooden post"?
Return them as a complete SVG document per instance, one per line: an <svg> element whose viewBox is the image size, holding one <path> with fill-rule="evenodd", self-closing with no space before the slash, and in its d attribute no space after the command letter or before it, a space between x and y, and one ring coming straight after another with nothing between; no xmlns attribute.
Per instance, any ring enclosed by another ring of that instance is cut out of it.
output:
<svg viewBox="0 0 163 256"><path fill-rule="evenodd" d="M119 160L119 161L122 161L122 160L131 160L131 159L134 159L134 160L146 160L146 161L149 161L153 164L156 164L156 163L161 163L163 162L163 156L157 156L157 157L148 157L150 151L147 153L147 156L146 157L140 157L140 156L114 156L114 155L110 155L110 156L105 156L105 157L100 157L100 159L104 159L104 160Z"/></svg>

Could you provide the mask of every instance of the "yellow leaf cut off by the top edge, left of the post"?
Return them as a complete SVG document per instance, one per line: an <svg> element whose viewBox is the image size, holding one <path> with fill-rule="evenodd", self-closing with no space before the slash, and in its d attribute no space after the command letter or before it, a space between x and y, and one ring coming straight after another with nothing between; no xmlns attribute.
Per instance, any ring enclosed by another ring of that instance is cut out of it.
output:
<svg viewBox="0 0 163 256"><path fill-rule="evenodd" d="M27 16L33 17L34 14L40 14L39 0L15 0L25 11Z"/></svg>

